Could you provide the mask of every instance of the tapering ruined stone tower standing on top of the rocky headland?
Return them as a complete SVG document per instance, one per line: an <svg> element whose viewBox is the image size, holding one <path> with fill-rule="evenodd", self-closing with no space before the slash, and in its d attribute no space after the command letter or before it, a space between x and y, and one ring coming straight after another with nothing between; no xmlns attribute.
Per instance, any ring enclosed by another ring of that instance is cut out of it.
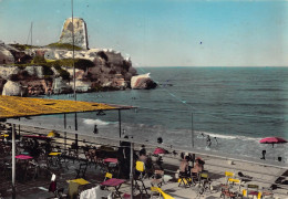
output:
<svg viewBox="0 0 288 199"><path fill-rule="evenodd" d="M88 50L88 29L86 23L82 18L74 18L74 45ZM72 18L65 20L62 32L60 35L59 43L72 44Z"/></svg>

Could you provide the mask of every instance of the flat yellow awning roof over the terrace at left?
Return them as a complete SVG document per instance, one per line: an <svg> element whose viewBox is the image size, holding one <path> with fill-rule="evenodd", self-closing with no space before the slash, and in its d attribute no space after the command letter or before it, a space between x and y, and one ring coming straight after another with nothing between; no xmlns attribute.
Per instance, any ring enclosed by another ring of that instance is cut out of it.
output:
<svg viewBox="0 0 288 199"><path fill-rule="evenodd" d="M0 96L0 118L130 108L132 107L91 102Z"/></svg>

